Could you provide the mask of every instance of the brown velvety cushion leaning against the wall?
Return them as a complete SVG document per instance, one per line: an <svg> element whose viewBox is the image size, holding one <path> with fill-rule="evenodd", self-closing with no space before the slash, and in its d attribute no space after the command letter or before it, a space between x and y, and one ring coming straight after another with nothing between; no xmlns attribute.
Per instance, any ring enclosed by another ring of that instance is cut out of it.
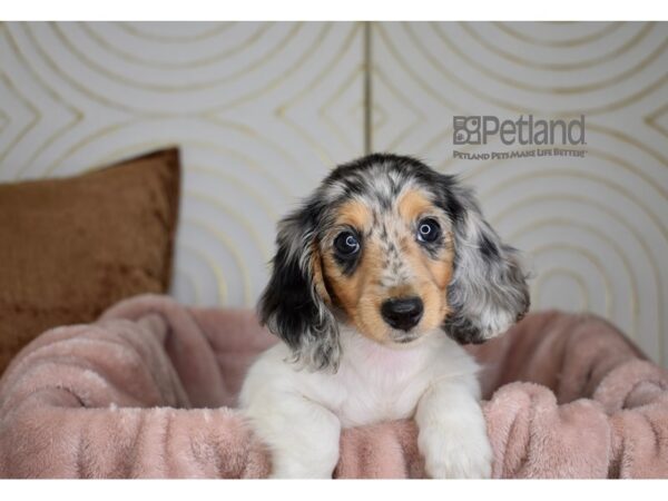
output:
<svg viewBox="0 0 668 501"><path fill-rule="evenodd" d="M0 374L45 330L168 289L179 183L170 148L68 178L0 184Z"/></svg>

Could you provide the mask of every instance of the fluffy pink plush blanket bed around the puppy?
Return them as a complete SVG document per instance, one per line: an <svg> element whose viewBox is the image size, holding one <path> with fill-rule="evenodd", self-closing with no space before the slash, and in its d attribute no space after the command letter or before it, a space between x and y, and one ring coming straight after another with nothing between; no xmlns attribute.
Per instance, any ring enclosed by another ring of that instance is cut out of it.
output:
<svg viewBox="0 0 668 501"><path fill-rule="evenodd" d="M150 295L51 330L0 380L0 477L265 477L234 405L274 342L249 312ZM668 477L668 373L608 323L532 314L471 352L495 478ZM335 477L421 478L415 433L345 430Z"/></svg>

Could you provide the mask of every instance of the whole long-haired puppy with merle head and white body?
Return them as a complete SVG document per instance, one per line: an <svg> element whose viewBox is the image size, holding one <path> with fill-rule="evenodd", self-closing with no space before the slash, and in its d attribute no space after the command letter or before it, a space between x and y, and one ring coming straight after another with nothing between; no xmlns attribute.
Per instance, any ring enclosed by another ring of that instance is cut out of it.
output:
<svg viewBox="0 0 668 501"><path fill-rule="evenodd" d="M431 478L488 478L477 365L529 307L518 253L454 177L410 157L335 168L278 225L259 318L278 343L239 403L274 478L331 478L342 428L413 418Z"/></svg>

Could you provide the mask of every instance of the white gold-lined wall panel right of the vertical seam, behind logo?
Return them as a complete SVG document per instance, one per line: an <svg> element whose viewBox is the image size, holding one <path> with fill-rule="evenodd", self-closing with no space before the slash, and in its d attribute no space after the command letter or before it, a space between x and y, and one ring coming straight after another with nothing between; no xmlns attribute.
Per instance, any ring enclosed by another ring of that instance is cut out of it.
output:
<svg viewBox="0 0 668 501"><path fill-rule="evenodd" d="M534 310L593 311L666 364L668 24L374 23L372 33L373 148L411 151L475 186L490 222L527 253ZM583 114L586 157L453 158L511 149L455 148L454 115L522 114Z"/></svg>

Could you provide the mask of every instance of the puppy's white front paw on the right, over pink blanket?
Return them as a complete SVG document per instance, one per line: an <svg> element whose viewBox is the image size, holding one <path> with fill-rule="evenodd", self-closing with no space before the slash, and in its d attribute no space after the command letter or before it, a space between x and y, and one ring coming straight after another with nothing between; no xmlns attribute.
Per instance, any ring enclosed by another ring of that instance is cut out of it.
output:
<svg viewBox="0 0 668 501"><path fill-rule="evenodd" d="M431 426L421 430L418 445L431 479L489 479L492 448L485 432Z"/></svg>

